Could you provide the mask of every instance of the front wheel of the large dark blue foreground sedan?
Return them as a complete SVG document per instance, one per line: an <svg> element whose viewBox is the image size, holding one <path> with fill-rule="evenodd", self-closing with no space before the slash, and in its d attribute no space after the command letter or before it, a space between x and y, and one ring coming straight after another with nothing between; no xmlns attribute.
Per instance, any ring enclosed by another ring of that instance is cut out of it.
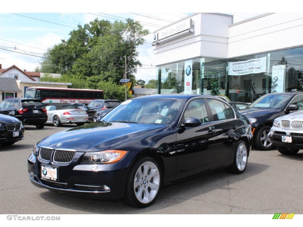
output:
<svg viewBox="0 0 303 227"><path fill-rule="evenodd" d="M124 202L129 206L148 207L157 198L161 187L161 170L151 157L139 158L130 169Z"/></svg>

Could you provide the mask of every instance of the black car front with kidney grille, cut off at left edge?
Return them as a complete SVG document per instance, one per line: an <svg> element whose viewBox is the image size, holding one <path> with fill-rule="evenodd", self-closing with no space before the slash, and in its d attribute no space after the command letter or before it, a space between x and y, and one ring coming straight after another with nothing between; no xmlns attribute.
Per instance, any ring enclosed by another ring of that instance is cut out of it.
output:
<svg viewBox="0 0 303 227"><path fill-rule="evenodd" d="M24 139L24 126L15 117L0 114L0 144L9 146Z"/></svg>

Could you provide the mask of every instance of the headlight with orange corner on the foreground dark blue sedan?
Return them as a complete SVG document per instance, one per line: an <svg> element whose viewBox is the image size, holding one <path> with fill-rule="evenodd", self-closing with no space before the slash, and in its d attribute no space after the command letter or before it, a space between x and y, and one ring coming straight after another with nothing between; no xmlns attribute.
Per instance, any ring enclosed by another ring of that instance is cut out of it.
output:
<svg viewBox="0 0 303 227"><path fill-rule="evenodd" d="M81 163L108 164L120 161L127 151L125 150L104 150L98 152L87 152L84 154Z"/></svg>

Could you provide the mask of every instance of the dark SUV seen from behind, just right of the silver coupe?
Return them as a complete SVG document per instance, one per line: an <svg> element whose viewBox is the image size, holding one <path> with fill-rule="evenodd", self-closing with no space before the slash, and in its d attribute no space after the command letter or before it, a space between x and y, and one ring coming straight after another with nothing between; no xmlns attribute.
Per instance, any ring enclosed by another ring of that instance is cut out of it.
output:
<svg viewBox="0 0 303 227"><path fill-rule="evenodd" d="M88 121L94 121L94 115L100 110L106 110L114 108L120 103L119 100L115 99L95 99L90 104L88 104L86 112L88 114Z"/></svg>

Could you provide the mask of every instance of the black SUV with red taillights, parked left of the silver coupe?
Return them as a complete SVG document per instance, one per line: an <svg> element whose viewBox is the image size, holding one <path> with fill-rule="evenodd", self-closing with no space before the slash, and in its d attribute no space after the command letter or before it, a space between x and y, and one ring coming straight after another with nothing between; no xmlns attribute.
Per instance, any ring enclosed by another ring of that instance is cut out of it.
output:
<svg viewBox="0 0 303 227"><path fill-rule="evenodd" d="M47 121L45 105L40 99L7 98L0 103L0 113L18 118L23 124L44 127Z"/></svg>

